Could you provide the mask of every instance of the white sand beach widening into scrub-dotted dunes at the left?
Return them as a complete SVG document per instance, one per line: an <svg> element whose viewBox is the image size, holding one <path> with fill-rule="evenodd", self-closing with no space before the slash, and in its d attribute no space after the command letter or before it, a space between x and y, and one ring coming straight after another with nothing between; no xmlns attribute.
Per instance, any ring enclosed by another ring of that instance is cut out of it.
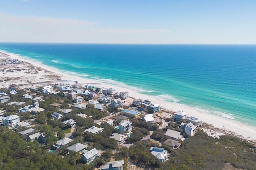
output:
<svg viewBox="0 0 256 170"><path fill-rule="evenodd" d="M201 119L203 122L213 125L216 128L216 131L219 131L224 134L232 134L237 137L241 137L248 141L256 143L256 128L250 127L248 125L227 119L225 117L221 117L218 115L213 115L211 113L207 113L204 111L200 111L198 109L193 109L187 106L183 106L176 103L165 102L158 98L154 98L152 96L147 96L144 94L140 94L134 92L130 89L121 88L118 86L110 85L110 84L102 84L96 80L81 78L74 75L66 74L60 70L55 68L45 66L36 61L30 61L27 58L19 57L18 55L6 53L4 51L0 51L9 56L0 56L0 60L11 58L18 59L23 61L22 64L6 64L0 65L0 88L8 88L10 86L15 86L15 88L28 88L32 86L31 84L45 81L52 81L44 84L54 84L57 81L54 80L70 80L77 81L81 84L97 84L95 86L102 86L105 88L115 88L117 92L128 91L130 96L133 98L141 98L144 100L151 100L153 104L160 104L161 107L165 107L172 111L184 111L188 113L188 116L194 116ZM74 82L70 82L70 84L74 84ZM37 84L34 86L43 86L42 84Z"/></svg>

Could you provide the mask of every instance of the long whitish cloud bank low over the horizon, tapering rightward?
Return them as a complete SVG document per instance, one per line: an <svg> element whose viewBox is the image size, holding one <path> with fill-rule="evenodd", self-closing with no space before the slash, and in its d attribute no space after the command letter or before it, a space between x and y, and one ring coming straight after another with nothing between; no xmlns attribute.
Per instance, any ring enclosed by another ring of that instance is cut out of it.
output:
<svg viewBox="0 0 256 170"><path fill-rule="evenodd" d="M166 29L115 29L76 19L15 16L0 12L0 23L2 42L160 43L170 39Z"/></svg>

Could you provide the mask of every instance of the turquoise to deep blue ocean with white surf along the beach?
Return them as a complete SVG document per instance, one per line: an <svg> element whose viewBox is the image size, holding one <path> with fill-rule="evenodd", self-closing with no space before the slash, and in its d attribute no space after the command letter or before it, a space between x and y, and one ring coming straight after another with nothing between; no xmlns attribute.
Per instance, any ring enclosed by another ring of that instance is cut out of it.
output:
<svg viewBox="0 0 256 170"><path fill-rule="evenodd" d="M0 43L0 49L256 126L256 45Z"/></svg>

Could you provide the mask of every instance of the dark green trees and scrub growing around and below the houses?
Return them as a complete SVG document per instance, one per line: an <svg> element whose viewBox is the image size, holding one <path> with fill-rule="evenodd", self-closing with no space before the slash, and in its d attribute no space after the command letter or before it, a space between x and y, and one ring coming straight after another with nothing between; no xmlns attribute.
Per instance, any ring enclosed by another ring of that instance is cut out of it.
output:
<svg viewBox="0 0 256 170"><path fill-rule="evenodd" d="M5 89L6 90L6 89ZM24 101L26 104L31 104L31 99L22 99L25 94L23 90L17 90L17 95L11 96L11 101ZM36 95L33 95L35 97ZM63 108L68 108L71 99L63 98L60 94L44 96L44 101L40 102L40 107L44 111L36 115L31 115L30 112L20 113L17 115L21 120L29 120L33 125L33 129L44 133L46 140L44 144L37 141L27 140L25 136L19 136L17 132L23 131L26 128L17 128L16 132L8 127L0 126L0 168L5 170L92 170L106 162L114 160L124 160L124 170L127 169L128 162L134 162L144 169L152 170L222 170L228 164L234 168L255 170L256 169L256 150L252 143L248 143L237 137L223 135L220 138L208 136L201 130L198 130L194 136L186 136L179 128L182 121L170 122L167 127L159 129L157 123L147 123L138 119L130 119L133 124L132 133L126 140L132 144L130 148L117 145L115 139L109 139L112 133L118 133L118 129L109 125L98 125L94 120L100 120L107 113L95 109L94 107L86 107L86 109L76 109L72 107L72 112L64 115L61 120L52 119L51 115L54 111L60 112L50 104L59 103ZM5 111L5 115L16 114L17 109L21 107L0 104L0 109ZM117 111L113 109L111 111ZM77 113L84 113L88 116L81 118ZM34 119L34 120L32 120ZM65 137L65 133L70 133L70 124L66 125L62 121L74 119L76 128L72 129L73 141L68 145L49 152L51 146ZM92 126L102 127L104 130L100 133L84 133L85 129ZM169 139L165 132L167 129L180 131L186 139L179 141L180 148L172 149L166 145L164 141ZM150 140L142 140L143 137L152 133L151 139L156 140L156 143ZM153 132L152 132L153 131ZM66 155L66 148L75 143L86 143L87 150L96 148L102 151L102 156L96 158L90 164L84 164L80 159L78 152L71 151ZM159 143L162 143L162 146ZM169 158L162 163L155 156L150 154L150 147L162 147L168 150ZM116 150L113 154L112 150Z"/></svg>

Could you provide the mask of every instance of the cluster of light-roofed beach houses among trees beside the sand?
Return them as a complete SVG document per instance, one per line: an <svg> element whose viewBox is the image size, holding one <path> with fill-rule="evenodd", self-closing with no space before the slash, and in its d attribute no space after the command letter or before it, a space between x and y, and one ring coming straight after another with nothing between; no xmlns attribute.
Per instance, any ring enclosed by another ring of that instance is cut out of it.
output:
<svg viewBox="0 0 256 170"><path fill-rule="evenodd" d="M175 150L202 133L202 121L189 113L166 110L114 88L65 83L33 87L11 94L1 90L1 127L86 170L163 168L179 152Z"/></svg>

